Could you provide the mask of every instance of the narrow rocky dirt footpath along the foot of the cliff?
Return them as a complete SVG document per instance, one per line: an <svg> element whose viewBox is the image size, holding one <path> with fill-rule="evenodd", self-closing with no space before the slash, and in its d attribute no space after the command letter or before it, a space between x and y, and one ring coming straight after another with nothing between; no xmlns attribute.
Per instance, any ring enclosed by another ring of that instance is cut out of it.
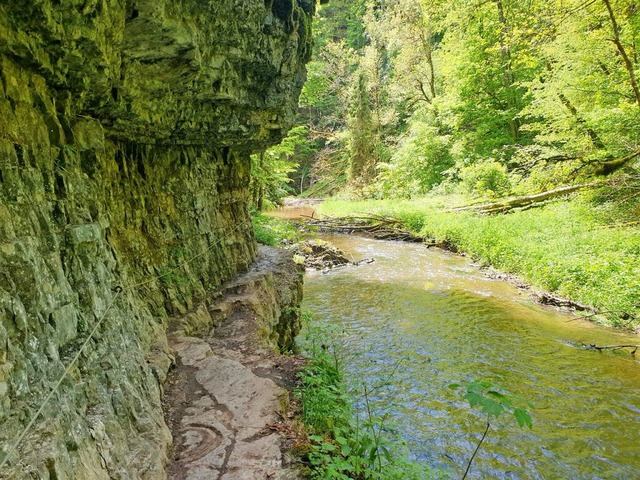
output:
<svg viewBox="0 0 640 480"><path fill-rule="evenodd" d="M282 328L266 318L282 299L271 298L271 308L265 308L264 297L291 269L290 254L261 247L251 271L227 285L214 304L174 327L176 368L165 393L174 436L170 479L299 478L287 466L275 431L289 414L285 387L291 387L297 360L276 354L265 341L278 337L274 328ZM198 330L206 333L197 335Z"/></svg>

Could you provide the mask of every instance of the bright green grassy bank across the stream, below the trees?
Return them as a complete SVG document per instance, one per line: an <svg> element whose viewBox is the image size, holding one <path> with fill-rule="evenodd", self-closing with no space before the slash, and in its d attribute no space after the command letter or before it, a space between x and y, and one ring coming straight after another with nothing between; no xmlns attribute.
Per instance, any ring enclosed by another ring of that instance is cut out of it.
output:
<svg viewBox="0 0 640 480"><path fill-rule="evenodd" d="M576 196L506 215L447 212L460 197L417 201L327 201L329 216L374 213L400 219L425 238L518 275L534 288L595 307L599 321L634 327L640 317L640 230L608 225L611 205ZM634 322L633 319L636 319ZM635 325L634 325L635 323Z"/></svg>

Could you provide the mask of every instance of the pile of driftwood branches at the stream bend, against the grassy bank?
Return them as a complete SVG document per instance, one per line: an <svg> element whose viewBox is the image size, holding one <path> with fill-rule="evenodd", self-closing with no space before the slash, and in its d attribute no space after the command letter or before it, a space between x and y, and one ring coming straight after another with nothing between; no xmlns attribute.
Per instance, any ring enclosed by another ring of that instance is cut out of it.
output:
<svg viewBox="0 0 640 480"><path fill-rule="evenodd" d="M361 234L379 240L423 241L421 237L405 230L400 220L383 215L311 218L305 224L315 227L321 232Z"/></svg>

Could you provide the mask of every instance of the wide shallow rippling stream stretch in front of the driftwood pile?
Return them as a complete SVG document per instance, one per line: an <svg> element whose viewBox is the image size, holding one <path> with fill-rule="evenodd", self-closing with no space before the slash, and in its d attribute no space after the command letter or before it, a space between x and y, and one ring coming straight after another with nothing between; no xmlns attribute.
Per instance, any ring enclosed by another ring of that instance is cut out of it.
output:
<svg viewBox="0 0 640 480"><path fill-rule="evenodd" d="M533 430L493 422L469 478L640 479L640 363L586 344L639 343L534 304L468 259L330 237L358 268L305 280L305 308L344 333L350 383L376 391L419 461L459 478L486 425L452 382L489 379L530 400Z"/></svg>

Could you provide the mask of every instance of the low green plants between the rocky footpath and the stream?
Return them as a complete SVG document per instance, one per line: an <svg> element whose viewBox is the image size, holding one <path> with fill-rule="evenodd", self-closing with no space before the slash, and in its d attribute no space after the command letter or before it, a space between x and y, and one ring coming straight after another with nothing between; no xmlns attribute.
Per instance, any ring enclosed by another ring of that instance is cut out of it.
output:
<svg viewBox="0 0 640 480"><path fill-rule="evenodd" d="M353 398L341 367L339 333L308 318L302 341L309 363L296 394L302 421L311 432L309 476L321 480L425 480L439 473L412 462L399 439L391 438L386 418L354 414Z"/></svg>

